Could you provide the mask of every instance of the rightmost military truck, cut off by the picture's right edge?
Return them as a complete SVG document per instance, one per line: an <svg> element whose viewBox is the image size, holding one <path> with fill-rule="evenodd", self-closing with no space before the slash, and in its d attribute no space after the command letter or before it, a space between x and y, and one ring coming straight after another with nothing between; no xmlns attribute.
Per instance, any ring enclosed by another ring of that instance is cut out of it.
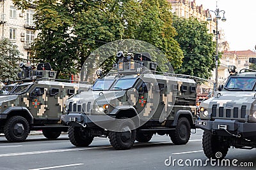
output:
<svg viewBox="0 0 256 170"><path fill-rule="evenodd" d="M256 146L256 71L237 73L234 66L228 71L230 76L220 91L200 104L201 120L196 120L196 126L204 130L202 143L208 158L225 158L230 146Z"/></svg>

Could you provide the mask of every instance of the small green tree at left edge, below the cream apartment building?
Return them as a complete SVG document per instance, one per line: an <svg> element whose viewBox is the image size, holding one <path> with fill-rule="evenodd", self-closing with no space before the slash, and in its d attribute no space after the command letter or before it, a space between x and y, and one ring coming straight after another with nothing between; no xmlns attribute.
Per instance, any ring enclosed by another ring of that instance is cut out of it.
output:
<svg viewBox="0 0 256 170"><path fill-rule="evenodd" d="M21 53L17 45L8 38L0 39L0 82L15 81L19 72L18 60Z"/></svg>

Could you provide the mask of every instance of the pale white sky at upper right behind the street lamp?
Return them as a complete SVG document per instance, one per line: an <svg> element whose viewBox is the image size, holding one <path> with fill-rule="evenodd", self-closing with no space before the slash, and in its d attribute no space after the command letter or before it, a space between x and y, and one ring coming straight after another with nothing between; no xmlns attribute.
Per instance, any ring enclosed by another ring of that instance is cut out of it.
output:
<svg viewBox="0 0 256 170"><path fill-rule="evenodd" d="M193 0L191 0L193 1ZM216 0L195 0L205 10L216 10ZM256 1L218 0L218 8L225 10L226 22L218 22L225 33L230 50L252 50L256 45ZM213 15L212 15L213 16ZM223 13L221 13L223 17Z"/></svg>

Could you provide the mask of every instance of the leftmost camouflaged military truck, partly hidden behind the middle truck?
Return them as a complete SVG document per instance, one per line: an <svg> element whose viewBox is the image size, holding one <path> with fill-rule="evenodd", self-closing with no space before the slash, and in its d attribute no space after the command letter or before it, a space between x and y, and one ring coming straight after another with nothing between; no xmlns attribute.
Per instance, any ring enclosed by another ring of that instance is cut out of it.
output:
<svg viewBox="0 0 256 170"><path fill-rule="evenodd" d="M68 131L60 120L65 100L89 85L56 81L49 63L38 64L36 70L22 63L20 67L20 81L0 90L0 133L10 142L24 141L38 130L48 139L58 138Z"/></svg>

